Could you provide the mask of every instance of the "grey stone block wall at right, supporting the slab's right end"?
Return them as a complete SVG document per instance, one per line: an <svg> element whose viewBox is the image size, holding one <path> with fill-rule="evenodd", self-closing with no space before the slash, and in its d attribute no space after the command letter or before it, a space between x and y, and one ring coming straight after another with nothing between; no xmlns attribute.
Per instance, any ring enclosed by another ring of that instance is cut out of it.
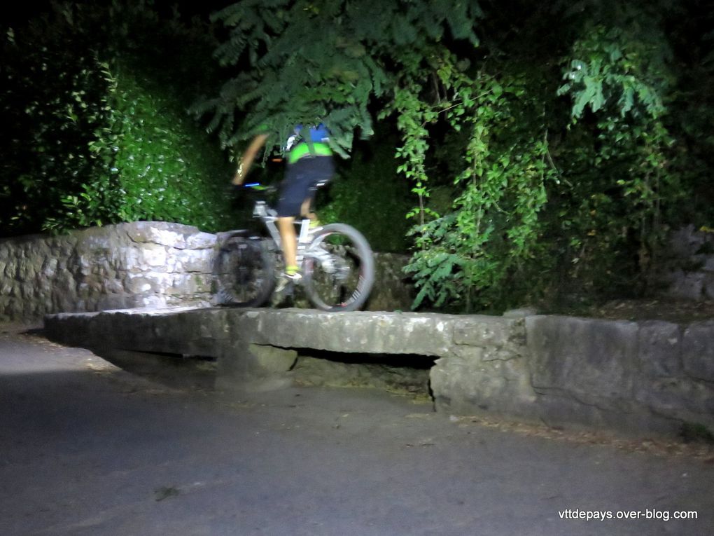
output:
<svg viewBox="0 0 714 536"><path fill-rule="evenodd" d="M436 404L554 426L671 435L714 431L714 321L673 324L533 315L454 331L431 372Z"/></svg>

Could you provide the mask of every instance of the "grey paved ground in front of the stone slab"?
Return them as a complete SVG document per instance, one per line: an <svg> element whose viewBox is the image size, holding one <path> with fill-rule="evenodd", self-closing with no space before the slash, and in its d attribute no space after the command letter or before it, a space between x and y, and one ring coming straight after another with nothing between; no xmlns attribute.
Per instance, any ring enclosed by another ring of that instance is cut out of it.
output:
<svg viewBox="0 0 714 536"><path fill-rule="evenodd" d="M504 431L376 390L172 385L0 334L0 535L714 533L706 452ZM698 519L662 519L681 511Z"/></svg>

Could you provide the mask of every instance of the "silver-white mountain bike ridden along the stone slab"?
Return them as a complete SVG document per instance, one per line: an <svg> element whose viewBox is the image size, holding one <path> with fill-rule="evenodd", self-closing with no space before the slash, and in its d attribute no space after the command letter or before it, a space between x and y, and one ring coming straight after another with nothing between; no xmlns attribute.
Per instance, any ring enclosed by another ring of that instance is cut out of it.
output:
<svg viewBox="0 0 714 536"><path fill-rule="evenodd" d="M257 183L243 189L258 194L274 191ZM283 271L277 212L257 199L253 217L262 222L267 236L246 229L218 233L213 274L219 305L261 307L271 299L276 276ZM303 275L298 285L308 300L330 312L362 307L374 283L374 259L365 237L341 223L312 228L310 219L302 219L296 226L297 261Z"/></svg>

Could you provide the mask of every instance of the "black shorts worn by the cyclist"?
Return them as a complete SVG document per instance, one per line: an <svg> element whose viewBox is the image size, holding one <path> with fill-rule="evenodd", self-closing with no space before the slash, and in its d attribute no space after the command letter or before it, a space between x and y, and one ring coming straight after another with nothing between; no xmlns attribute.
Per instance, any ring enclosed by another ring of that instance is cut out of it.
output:
<svg viewBox="0 0 714 536"><path fill-rule="evenodd" d="M304 157L295 164L288 164L276 207L278 216L300 216L303 202L313 197L317 185L332 179L333 174L332 157Z"/></svg>

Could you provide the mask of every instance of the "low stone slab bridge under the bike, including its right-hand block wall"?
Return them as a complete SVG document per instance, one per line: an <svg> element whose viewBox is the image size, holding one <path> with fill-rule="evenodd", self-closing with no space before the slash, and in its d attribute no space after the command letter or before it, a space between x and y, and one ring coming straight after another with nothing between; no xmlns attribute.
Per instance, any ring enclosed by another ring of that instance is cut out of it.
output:
<svg viewBox="0 0 714 536"><path fill-rule="evenodd" d="M311 349L408 354L434 358L441 412L637 435L714 430L714 322L177 308L51 314L45 327L98 352L216 358L221 389L289 382L297 352Z"/></svg>

